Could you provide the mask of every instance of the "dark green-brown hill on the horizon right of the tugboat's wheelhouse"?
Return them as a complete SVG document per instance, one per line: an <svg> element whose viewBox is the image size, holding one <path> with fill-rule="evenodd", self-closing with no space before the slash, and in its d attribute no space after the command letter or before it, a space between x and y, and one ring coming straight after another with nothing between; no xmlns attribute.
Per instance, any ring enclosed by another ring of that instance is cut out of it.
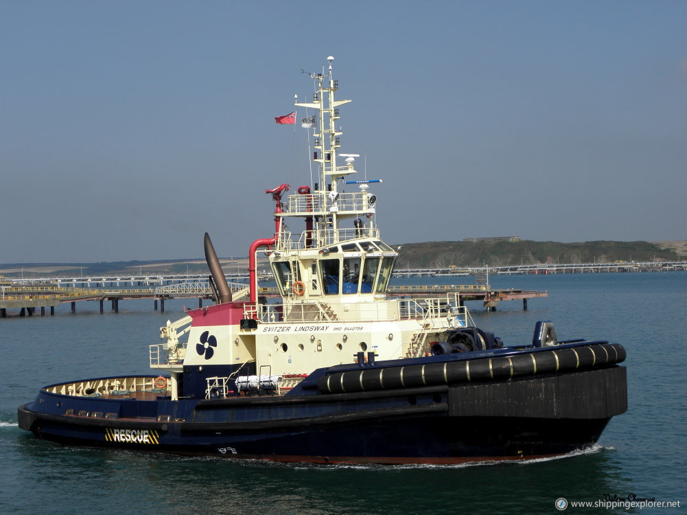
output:
<svg viewBox="0 0 687 515"><path fill-rule="evenodd" d="M402 268L506 266L538 263L612 263L613 261L677 261L678 245L649 241L430 241L403 243L397 266ZM396 247L397 245L394 245ZM687 246L686 246L687 249ZM687 250L683 255L687 254Z"/></svg>

